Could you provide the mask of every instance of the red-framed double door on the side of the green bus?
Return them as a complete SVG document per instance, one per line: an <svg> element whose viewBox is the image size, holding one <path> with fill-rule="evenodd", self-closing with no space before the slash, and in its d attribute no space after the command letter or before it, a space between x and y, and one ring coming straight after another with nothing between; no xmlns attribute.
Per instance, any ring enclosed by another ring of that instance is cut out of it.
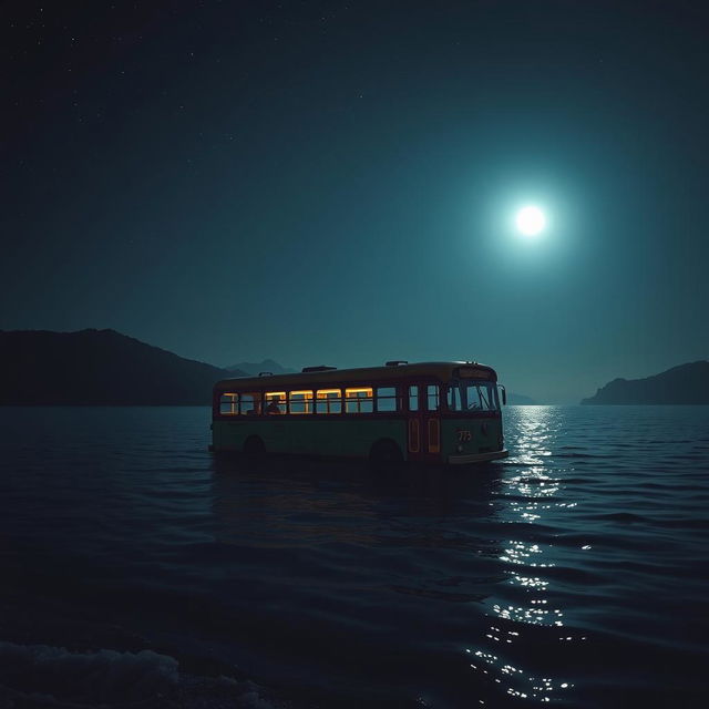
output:
<svg viewBox="0 0 709 709"><path fill-rule="evenodd" d="M408 387L408 460L435 461L441 455L441 388L434 383Z"/></svg>

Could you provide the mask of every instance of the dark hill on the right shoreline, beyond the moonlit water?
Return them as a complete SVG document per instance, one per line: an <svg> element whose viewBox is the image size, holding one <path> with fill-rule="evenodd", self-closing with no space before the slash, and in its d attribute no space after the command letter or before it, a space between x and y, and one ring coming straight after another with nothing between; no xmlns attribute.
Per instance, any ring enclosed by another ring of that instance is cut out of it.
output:
<svg viewBox="0 0 709 709"><path fill-rule="evenodd" d="M708 404L709 361L672 367L645 379L614 379L582 404Z"/></svg>

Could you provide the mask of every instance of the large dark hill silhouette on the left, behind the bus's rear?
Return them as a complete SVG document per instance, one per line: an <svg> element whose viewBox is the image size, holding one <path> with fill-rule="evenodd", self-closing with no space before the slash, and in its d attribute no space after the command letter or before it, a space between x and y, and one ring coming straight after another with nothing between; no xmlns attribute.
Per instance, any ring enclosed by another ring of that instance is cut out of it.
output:
<svg viewBox="0 0 709 709"><path fill-rule="evenodd" d="M0 331L0 404L189 405L243 376L115 330Z"/></svg>

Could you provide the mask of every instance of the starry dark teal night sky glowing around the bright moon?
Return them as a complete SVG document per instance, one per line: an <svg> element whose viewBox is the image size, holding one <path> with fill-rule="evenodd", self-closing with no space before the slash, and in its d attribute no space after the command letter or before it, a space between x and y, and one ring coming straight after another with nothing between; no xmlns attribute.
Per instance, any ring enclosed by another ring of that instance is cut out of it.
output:
<svg viewBox="0 0 709 709"><path fill-rule="evenodd" d="M548 402L708 357L703 3L82 6L2 7L1 329Z"/></svg>

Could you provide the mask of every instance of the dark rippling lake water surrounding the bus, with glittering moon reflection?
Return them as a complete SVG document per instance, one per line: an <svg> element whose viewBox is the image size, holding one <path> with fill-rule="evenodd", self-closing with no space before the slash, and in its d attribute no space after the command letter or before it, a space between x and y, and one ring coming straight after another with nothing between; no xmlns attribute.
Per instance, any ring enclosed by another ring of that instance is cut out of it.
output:
<svg viewBox="0 0 709 709"><path fill-rule="evenodd" d="M215 461L202 408L0 409L0 707L707 706L709 408L511 458Z"/></svg>

